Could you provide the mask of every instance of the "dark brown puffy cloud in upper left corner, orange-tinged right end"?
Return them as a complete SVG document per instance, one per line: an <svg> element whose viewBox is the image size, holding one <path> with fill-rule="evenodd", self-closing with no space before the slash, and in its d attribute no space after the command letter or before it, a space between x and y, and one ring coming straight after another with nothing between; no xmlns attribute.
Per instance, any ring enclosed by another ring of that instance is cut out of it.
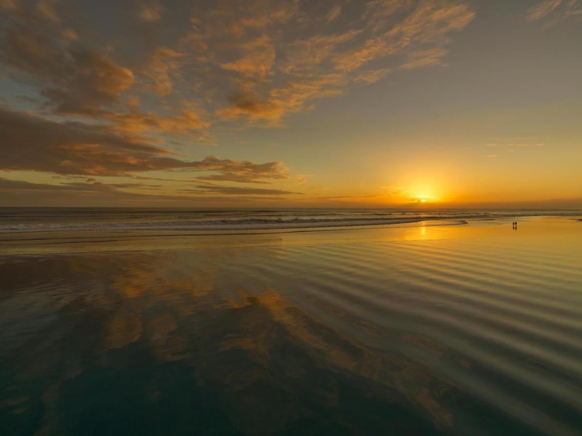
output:
<svg viewBox="0 0 582 436"><path fill-rule="evenodd" d="M61 26L55 4L36 3L36 9L17 15L12 26L5 27L3 63L36 84L48 100L45 105L56 112L91 114L102 105L118 103L134 84L132 70L102 52L70 46L77 33Z"/></svg>

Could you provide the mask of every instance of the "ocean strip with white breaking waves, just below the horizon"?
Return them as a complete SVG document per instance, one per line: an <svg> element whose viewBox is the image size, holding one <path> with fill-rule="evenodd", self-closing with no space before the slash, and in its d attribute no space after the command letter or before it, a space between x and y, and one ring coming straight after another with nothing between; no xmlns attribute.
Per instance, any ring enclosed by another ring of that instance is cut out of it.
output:
<svg viewBox="0 0 582 436"><path fill-rule="evenodd" d="M144 209L144 208L0 208L0 232L131 230L267 230L391 225L421 221L494 219L529 216L577 216L580 211L552 210L386 210L386 209Z"/></svg>

